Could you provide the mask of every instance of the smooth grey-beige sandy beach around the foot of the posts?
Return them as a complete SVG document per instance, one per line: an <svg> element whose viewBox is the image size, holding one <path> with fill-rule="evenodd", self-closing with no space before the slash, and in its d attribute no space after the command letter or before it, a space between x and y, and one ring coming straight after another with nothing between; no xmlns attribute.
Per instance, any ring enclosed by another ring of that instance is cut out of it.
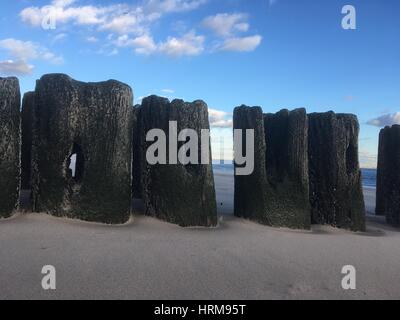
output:
<svg viewBox="0 0 400 320"><path fill-rule="evenodd" d="M0 299L399 299L400 231L293 231L232 216L233 177L217 174L220 224L183 229L136 216L104 226L44 214L0 221ZM365 189L367 208L374 191ZM57 290L41 269L57 270ZM341 269L357 270L344 291Z"/></svg>

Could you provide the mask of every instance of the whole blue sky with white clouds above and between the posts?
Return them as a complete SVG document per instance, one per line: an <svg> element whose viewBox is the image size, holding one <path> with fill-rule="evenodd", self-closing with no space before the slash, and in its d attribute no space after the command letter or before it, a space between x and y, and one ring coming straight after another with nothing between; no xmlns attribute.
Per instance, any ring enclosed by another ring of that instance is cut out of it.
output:
<svg viewBox="0 0 400 320"><path fill-rule="evenodd" d="M341 27L346 4L356 30ZM55 29L42 27L49 14ZM23 92L62 72L123 81L135 101L203 99L228 140L240 104L355 113L371 167L380 126L400 122L399 35L398 0L1 1L0 75Z"/></svg>

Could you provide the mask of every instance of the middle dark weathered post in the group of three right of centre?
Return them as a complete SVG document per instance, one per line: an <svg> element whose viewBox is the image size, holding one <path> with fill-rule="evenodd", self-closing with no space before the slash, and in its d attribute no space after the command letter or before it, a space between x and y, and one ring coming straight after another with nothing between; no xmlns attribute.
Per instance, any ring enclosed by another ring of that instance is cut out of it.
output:
<svg viewBox="0 0 400 320"><path fill-rule="evenodd" d="M267 199L272 225L309 229L308 117L305 109L264 115Z"/></svg>

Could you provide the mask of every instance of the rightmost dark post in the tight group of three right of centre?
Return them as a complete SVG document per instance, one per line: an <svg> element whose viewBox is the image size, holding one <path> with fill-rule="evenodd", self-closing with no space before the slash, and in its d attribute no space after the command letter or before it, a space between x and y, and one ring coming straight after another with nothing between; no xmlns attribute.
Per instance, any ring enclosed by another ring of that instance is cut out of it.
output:
<svg viewBox="0 0 400 320"><path fill-rule="evenodd" d="M358 160L359 124L351 114L309 115L309 172L312 222L365 230Z"/></svg>

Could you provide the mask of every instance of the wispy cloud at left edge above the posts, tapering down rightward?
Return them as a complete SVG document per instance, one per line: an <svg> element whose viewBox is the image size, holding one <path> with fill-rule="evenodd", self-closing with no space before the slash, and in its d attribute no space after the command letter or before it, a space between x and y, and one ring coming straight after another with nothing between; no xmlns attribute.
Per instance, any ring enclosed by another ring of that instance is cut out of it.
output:
<svg viewBox="0 0 400 320"><path fill-rule="evenodd" d="M18 61L45 60L52 64L62 64L61 56L50 52L47 48L31 41L21 41L13 38L0 40L0 49L3 49Z"/></svg>

